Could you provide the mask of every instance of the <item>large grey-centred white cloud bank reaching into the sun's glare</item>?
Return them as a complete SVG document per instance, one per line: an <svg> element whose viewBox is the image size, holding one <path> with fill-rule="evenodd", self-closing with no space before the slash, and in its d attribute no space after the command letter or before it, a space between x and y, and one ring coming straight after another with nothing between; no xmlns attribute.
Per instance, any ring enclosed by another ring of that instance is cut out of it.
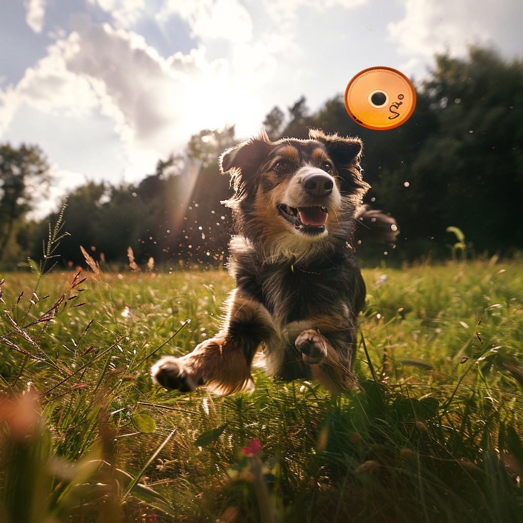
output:
<svg viewBox="0 0 523 523"><path fill-rule="evenodd" d="M165 59L135 32L91 24L56 40L16 86L0 88L0 133L22 106L109 117L127 151L126 172L134 174L182 149L200 129L259 116L249 99L253 78L275 64L263 45L238 45L232 61L209 61L203 46Z"/></svg>

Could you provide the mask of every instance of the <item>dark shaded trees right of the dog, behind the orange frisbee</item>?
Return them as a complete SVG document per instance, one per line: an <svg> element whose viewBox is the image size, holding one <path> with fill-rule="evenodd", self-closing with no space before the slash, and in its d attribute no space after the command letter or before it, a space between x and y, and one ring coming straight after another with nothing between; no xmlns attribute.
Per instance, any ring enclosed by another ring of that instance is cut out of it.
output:
<svg viewBox="0 0 523 523"><path fill-rule="evenodd" d="M301 129L363 140L364 176L372 186L366 201L374 198L372 205L399 223L396 257L441 256L448 226L459 227L476 252L520 249L523 62L472 47L467 60L438 55L431 75L400 127L362 128L338 96ZM303 132L296 126L293 119L282 134Z"/></svg>

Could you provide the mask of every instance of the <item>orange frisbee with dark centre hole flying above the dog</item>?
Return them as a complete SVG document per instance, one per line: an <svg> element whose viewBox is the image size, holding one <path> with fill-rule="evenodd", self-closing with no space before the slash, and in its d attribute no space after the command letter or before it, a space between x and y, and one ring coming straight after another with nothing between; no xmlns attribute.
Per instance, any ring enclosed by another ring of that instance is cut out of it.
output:
<svg viewBox="0 0 523 523"><path fill-rule="evenodd" d="M392 129L414 111L416 91L411 81L392 67L370 67L351 79L345 89L345 108L360 126Z"/></svg>

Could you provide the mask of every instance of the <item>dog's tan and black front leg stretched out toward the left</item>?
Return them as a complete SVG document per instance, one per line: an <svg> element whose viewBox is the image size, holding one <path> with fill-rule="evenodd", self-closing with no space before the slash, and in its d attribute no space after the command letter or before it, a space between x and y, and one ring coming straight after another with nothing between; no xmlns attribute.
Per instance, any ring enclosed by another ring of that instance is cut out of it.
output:
<svg viewBox="0 0 523 523"><path fill-rule="evenodd" d="M155 363L151 374L156 382L182 392L206 385L220 394L252 386L253 357L276 330L267 309L238 289L231 293L227 308L225 325L214 338L186 356L165 356Z"/></svg>

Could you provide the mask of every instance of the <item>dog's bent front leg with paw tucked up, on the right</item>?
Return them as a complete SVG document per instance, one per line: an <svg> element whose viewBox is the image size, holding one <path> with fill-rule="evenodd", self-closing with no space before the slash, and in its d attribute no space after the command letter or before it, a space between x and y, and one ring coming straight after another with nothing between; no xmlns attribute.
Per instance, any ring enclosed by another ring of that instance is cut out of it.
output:
<svg viewBox="0 0 523 523"><path fill-rule="evenodd" d="M311 366L314 379L329 392L354 389L358 380L351 371L353 343L346 331L329 333L329 338L331 340L319 330L308 329L296 338L295 345L302 353L303 361Z"/></svg>

